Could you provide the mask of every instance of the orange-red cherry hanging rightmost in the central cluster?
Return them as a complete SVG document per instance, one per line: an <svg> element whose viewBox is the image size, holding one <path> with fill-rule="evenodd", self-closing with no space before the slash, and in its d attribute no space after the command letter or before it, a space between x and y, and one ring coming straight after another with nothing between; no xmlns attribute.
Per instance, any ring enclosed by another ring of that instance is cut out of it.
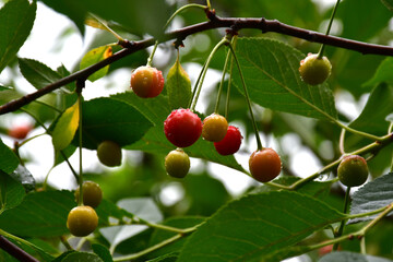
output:
<svg viewBox="0 0 393 262"><path fill-rule="evenodd" d="M278 154L272 148L262 148L251 154L250 172L260 182L269 182L276 178L282 168Z"/></svg>

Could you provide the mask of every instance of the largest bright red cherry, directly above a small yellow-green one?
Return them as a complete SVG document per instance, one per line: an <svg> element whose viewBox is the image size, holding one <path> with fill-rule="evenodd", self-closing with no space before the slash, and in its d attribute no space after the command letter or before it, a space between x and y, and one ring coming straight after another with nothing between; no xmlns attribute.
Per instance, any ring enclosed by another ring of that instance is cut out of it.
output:
<svg viewBox="0 0 393 262"><path fill-rule="evenodd" d="M201 136L202 121L190 109L176 109L164 121L164 132L170 143L187 147Z"/></svg>

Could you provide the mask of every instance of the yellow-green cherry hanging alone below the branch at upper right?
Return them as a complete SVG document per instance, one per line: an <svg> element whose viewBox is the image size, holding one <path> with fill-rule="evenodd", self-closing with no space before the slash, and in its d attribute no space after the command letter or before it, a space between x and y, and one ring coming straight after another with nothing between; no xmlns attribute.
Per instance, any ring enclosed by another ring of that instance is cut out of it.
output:
<svg viewBox="0 0 393 262"><path fill-rule="evenodd" d="M310 85L322 84L332 71L332 64L326 57L318 58L318 53L309 53L300 61L299 72L302 81Z"/></svg>

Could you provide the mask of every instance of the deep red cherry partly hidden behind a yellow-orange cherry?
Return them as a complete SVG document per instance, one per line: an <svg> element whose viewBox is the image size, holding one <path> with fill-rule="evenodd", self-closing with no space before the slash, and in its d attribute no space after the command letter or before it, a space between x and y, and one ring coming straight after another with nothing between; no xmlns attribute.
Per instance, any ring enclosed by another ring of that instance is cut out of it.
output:
<svg viewBox="0 0 393 262"><path fill-rule="evenodd" d="M239 129L229 126L225 138L219 142L214 142L214 147L221 155L233 155L240 148L241 139Z"/></svg>

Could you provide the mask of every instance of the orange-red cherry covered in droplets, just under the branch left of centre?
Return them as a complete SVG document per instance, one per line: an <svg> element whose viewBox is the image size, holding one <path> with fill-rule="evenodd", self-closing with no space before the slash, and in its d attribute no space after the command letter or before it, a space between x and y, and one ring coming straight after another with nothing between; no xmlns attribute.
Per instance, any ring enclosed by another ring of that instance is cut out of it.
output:
<svg viewBox="0 0 393 262"><path fill-rule="evenodd" d="M139 67L131 74L131 88L140 97L156 97L164 88L162 71L148 66Z"/></svg>

